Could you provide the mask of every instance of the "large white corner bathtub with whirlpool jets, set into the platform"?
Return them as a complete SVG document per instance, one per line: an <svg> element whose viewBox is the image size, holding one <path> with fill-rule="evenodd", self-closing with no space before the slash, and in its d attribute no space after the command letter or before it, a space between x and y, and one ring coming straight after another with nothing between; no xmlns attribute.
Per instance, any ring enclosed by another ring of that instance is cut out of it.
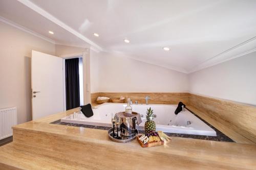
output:
<svg viewBox="0 0 256 170"><path fill-rule="evenodd" d="M125 110L126 104L120 103L104 103L95 108L93 108L94 115L92 117L86 117L81 114L80 118L73 118L72 116L67 116L61 118L61 122L74 123L74 124L84 124L84 125L95 125L95 126L105 126L112 127L111 117L112 113L115 114L120 111ZM182 134L194 134L194 135L207 135L216 136L215 130L206 125L202 120L196 117L194 114L190 113L188 110L180 112L175 115L175 109L177 105L131 105L133 111L140 113L142 117L142 123L139 125L139 130L144 130L144 123L146 117L146 109L152 108L156 118L156 130L169 133L182 133ZM190 121L190 125L187 122Z"/></svg>

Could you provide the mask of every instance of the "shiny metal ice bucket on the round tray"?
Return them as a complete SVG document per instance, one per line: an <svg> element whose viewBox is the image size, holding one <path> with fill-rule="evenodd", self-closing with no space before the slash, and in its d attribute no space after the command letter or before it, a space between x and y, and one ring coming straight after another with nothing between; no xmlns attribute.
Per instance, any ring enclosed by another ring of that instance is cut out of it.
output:
<svg viewBox="0 0 256 170"><path fill-rule="evenodd" d="M119 112L116 113L115 117L120 122L120 134L121 136L133 136L136 135L137 115L138 113L133 112L132 114Z"/></svg>

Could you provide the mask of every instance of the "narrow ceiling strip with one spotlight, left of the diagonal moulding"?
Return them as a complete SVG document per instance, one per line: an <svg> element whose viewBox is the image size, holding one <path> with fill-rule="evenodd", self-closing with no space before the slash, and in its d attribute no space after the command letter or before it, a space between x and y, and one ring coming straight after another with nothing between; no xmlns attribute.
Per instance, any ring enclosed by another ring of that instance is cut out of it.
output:
<svg viewBox="0 0 256 170"><path fill-rule="evenodd" d="M51 42L86 47L90 46L89 43L81 40L79 37L59 27L56 23L16 0L0 0L0 16L4 21L11 22L18 27L24 27ZM48 33L50 30L54 32L54 35Z"/></svg>

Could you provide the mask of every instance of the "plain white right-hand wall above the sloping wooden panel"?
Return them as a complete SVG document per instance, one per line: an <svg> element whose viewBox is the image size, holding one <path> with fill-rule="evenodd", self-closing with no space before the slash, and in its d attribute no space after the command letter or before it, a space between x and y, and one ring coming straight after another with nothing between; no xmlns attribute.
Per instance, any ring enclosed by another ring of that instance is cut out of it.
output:
<svg viewBox="0 0 256 170"><path fill-rule="evenodd" d="M256 52L189 74L190 92L256 105Z"/></svg>

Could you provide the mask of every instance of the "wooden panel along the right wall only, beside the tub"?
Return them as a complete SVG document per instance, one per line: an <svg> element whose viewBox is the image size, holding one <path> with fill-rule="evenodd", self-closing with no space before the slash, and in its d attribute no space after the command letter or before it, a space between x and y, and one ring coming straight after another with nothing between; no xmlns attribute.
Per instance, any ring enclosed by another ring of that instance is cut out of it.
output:
<svg viewBox="0 0 256 170"><path fill-rule="evenodd" d="M190 93L188 108L234 141L256 143L256 107Z"/></svg>

